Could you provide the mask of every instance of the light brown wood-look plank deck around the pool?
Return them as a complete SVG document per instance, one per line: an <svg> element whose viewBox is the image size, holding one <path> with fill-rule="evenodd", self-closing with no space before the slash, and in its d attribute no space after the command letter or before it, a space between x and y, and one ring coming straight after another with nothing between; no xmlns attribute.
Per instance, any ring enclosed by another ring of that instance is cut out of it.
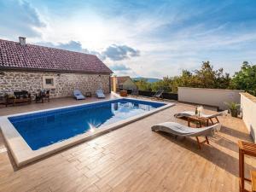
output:
<svg viewBox="0 0 256 192"><path fill-rule="evenodd" d="M25 107L0 108L0 115L73 104L71 99ZM194 109L177 103L131 125L17 168L0 135L0 191L238 191L237 140L251 141L241 119L223 124L211 145L197 148L194 138L177 138L150 127ZM247 177L256 161L246 160ZM254 167L253 167L254 166Z"/></svg>

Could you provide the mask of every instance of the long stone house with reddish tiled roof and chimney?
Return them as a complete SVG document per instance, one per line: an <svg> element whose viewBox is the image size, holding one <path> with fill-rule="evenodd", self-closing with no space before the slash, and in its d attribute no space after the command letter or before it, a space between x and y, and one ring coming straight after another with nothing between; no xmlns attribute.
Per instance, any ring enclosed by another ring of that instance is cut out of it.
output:
<svg viewBox="0 0 256 192"><path fill-rule="evenodd" d="M113 73L96 55L0 39L0 94L16 90L51 97L73 96L73 90L110 92Z"/></svg>

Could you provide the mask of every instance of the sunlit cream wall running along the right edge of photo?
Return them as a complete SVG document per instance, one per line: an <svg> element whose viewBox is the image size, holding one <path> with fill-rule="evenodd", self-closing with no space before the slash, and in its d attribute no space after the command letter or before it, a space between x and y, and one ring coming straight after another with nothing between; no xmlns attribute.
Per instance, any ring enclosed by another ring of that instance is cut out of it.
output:
<svg viewBox="0 0 256 192"><path fill-rule="evenodd" d="M256 97L248 93L241 93L242 119L256 143Z"/></svg>

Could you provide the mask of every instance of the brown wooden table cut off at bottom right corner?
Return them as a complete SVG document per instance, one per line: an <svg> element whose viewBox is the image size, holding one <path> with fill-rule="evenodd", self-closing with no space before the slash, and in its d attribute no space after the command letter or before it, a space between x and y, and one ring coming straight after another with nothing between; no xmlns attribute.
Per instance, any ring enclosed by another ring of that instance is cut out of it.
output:
<svg viewBox="0 0 256 192"><path fill-rule="evenodd" d="M244 155L256 157L256 144L238 141L239 147L239 188L240 192L248 191L244 189L244 182L252 182L251 179L244 176ZM255 177L254 177L255 178ZM255 182L255 181L253 181Z"/></svg>

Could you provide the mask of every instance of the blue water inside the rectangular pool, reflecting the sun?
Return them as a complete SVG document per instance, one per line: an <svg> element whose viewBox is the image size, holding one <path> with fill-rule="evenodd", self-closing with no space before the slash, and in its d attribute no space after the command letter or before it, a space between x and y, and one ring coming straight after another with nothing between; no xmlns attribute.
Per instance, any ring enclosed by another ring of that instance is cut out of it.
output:
<svg viewBox="0 0 256 192"><path fill-rule="evenodd" d="M9 117L9 121L30 148L37 150L163 105L159 102L118 99Z"/></svg>

